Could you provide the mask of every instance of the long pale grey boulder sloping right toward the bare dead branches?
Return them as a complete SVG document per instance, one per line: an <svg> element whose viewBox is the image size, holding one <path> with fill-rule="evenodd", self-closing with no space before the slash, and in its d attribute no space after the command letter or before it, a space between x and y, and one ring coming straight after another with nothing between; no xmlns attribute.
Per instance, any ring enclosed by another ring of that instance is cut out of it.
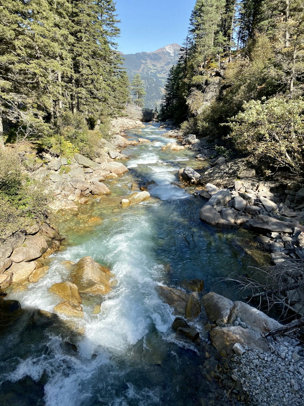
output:
<svg viewBox="0 0 304 406"><path fill-rule="evenodd" d="M240 301L234 302L230 311L229 322L234 323L238 317L260 334L282 327L282 324L268 317L262 311Z"/></svg>

